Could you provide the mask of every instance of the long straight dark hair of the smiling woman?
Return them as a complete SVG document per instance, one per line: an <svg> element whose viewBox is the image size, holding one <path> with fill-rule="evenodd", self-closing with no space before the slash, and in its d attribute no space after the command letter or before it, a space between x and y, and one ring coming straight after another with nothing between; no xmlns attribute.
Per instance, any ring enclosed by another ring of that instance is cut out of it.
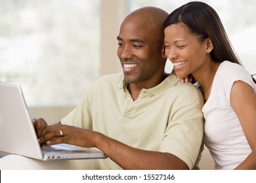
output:
<svg viewBox="0 0 256 183"><path fill-rule="evenodd" d="M228 60L242 65L226 35L219 15L212 7L198 1L186 3L169 14L163 23L163 28L179 23L185 24L190 33L198 35L200 41L211 39L213 44L211 59L217 62ZM254 78L253 82L256 83Z"/></svg>

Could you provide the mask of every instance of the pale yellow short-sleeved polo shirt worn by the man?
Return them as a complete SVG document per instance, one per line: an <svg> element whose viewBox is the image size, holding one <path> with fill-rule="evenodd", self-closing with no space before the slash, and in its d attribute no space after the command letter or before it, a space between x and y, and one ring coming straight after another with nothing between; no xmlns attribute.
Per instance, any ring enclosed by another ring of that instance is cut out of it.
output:
<svg viewBox="0 0 256 183"><path fill-rule="evenodd" d="M203 137L203 97L168 76L133 101L123 74L99 78L62 124L89 128L134 148L169 152L194 167ZM121 169L110 158L100 169Z"/></svg>

